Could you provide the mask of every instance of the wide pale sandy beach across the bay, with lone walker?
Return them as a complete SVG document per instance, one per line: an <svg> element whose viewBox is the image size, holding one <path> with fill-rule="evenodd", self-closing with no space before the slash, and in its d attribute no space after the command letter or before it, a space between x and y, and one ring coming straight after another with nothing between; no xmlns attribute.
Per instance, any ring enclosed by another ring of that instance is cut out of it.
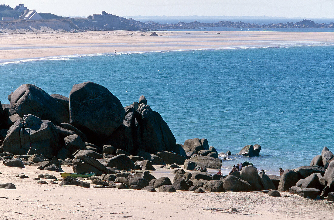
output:
<svg viewBox="0 0 334 220"><path fill-rule="evenodd" d="M134 51L224 49L317 45L334 42L334 32L279 31L88 31L0 34L0 60ZM219 34L218 34L219 33ZM145 36L143 36L143 35Z"/></svg>

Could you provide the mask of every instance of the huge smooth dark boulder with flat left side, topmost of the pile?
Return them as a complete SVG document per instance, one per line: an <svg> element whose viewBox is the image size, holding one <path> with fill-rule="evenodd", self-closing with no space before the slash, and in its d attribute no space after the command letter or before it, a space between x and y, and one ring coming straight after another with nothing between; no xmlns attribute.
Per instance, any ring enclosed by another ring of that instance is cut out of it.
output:
<svg viewBox="0 0 334 220"><path fill-rule="evenodd" d="M94 82L75 84L69 93L70 124L84 132L109 137L123 123L125 110L107 88Z"/></svg>

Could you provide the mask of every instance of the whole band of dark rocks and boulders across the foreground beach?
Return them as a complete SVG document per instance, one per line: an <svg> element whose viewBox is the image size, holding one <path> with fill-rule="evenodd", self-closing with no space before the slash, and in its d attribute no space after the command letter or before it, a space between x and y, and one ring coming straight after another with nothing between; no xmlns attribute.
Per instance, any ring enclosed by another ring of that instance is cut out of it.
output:
<svg viewBox="0 0 334 220"><path fill-rule="evenodd" d="M142 95L126 106L107 88L94 82L73 85L69 97L47 94L32 84L23 84L9 94L10 104L0 105L0 160L7 167L35 166L38 170L63 172L71 166L76 174L40 174L34 180L60 186L118 188L155 192L178 190L205 192L255 192L281 196L290 193L311 199L334 200L334 155L324 148L310 166L286 169L281 176L243 163L241 171L223 176L206 172L221 168L222 160L206 139L188 139L177 144L161 115ZM240 155L258 156L260 145L247 145ZM228 155L221 153L220 155ZM171 170L155 178L153 165ZM183 168L183 169L182 169ZM55 173L56 174L56 173ZM24 174L18 178L29 178ZM91 182L89 182L91 181ZM0 188L16 189L12 183Z"/></svg>

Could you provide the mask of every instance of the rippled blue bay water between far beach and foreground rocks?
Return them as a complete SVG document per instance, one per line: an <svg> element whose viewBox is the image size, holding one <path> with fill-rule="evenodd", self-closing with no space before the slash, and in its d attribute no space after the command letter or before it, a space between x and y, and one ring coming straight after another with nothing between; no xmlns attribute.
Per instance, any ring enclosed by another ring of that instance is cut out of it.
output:
<svg viewBox="0 0 334 220"><path fill-rule="evenodd" d="M267 173L308 165L334 151L334 46L64 56L2 63L0 100L23 83L65 96L73 84L107 87L124 106L145 95L177 143L206 138L218 153L260 144L260 157L232 155Z"/></svg>

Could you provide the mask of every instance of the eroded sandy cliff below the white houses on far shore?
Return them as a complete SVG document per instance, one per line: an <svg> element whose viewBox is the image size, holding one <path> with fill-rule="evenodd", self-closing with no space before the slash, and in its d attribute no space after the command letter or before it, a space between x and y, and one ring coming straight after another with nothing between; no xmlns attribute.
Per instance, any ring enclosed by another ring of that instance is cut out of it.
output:
<svg viewBox="0 0 334 220"><path fill-rule="evenodd" d="M26 32L70 31L78 29L70 20L14 20L0 22L0 34Z"/></svg>

